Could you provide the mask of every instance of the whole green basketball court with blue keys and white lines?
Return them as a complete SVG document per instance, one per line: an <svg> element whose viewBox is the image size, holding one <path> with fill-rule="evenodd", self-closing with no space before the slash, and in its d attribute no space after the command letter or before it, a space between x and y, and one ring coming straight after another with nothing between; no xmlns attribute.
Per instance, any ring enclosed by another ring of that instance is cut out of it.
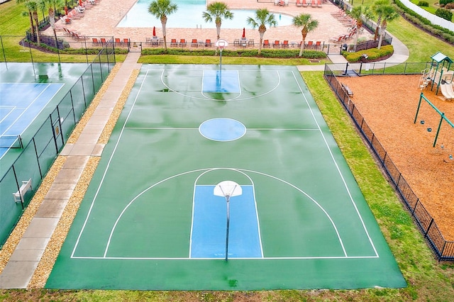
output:
<svg viewBox="0 0 454 302"><path fill-rule="evenodd" d="M406 286L297 68L218 68L143 65L46 288Z"/></svg>

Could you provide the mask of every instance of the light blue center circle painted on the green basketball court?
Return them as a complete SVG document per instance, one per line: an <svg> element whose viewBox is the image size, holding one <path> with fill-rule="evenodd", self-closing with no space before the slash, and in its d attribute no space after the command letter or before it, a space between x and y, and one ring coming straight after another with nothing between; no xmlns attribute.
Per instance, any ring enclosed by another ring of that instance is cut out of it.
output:
<svg viewBox="0 0 454 302"><path fill-rule="evenodd" d="M246 133L246 127L233 118L211 118L200 124L199 132L209 140L229 142L242 138Z"/></svg>

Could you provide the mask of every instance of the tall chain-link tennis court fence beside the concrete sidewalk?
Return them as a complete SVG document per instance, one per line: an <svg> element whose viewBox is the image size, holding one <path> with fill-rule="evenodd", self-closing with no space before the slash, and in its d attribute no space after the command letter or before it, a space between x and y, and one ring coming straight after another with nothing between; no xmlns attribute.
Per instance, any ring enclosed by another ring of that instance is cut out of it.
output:
<svg viewBox="0 0 454 302"><path fill-rule="evenodd" d="M92 103L115 65L114 48L105 45L70 91L57 104L30 141L0 179L0 247L21 218L50 166L70 137L75 125ZM7 140L8 138L6 138ZM19 138L16 138L19 140ZM14 152L18 149L12 149ZM31 190L23 190L23 181L31 180ZM14 198L18 196L19 198ZM18 201L19 200L19 201Z"/></svg>

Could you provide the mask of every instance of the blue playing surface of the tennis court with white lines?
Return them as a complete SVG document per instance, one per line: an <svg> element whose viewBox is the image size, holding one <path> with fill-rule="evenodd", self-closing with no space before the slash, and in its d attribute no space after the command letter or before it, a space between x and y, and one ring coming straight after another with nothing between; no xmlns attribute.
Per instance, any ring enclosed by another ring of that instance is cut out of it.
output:
<svg viewBox="0 0 454 302"><path fill-rule="evenodd" d="M0 83L0 158L11 147L11 138L22 135L63 85Z"/></svg>

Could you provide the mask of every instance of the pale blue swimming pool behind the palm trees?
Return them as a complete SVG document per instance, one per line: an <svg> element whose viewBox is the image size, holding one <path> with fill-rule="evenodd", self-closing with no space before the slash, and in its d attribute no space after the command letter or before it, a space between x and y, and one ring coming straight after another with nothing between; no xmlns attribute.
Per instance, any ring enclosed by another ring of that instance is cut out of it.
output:
<svg viewBox="0 0 454 302"><path fill-rule="evenodd" d="M118 23L120 28L152 28L161 27L161 21L151 13L148 13L148 6L152 0L139 0L126 13L126 16ZM216 28L214 22L206 23L201 17L202 12L206 11L205 0L172 0L177 4L178 10L172 15L167 16L167 28ZM246 19L255 16L254 10L231 10L232 20L223 20L221 28L250 28ZM275 13L277 26L287 26L292 24L292 17L281 13Z"/></svg>

